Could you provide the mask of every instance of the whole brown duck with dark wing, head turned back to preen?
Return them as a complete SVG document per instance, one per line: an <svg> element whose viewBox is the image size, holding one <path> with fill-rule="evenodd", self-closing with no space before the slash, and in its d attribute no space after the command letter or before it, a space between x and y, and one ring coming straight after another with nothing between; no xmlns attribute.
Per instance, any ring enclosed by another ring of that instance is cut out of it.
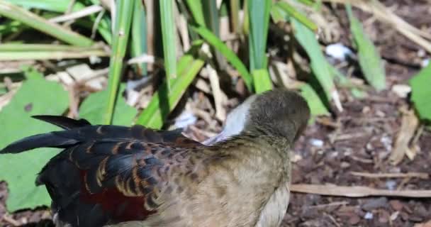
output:
<svg viewBox="0 0 431 227"><path fill-rule="evenodd" d="M279 226L289 204L289 150L308 106L276 90L239 109L240 130L208 146L181 131L36 116L65 131L18 140L0 153L64 149L36 181L52 198L58 226Z"/></svg>

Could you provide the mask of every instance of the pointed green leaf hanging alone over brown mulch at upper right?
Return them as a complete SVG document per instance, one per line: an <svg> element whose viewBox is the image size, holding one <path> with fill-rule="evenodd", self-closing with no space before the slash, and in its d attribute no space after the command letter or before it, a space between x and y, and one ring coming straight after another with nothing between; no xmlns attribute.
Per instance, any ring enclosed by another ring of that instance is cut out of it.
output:
<svg viewBox="0 0 431 227"><path fill-rule="evenodd" d="M357 46L359 65L364 77L377 91L386 88L385 69L379 52L371 39L366 35L362 24L353 16L352 6L346 5L347 15L350 21L350 31Z"/></svg>

